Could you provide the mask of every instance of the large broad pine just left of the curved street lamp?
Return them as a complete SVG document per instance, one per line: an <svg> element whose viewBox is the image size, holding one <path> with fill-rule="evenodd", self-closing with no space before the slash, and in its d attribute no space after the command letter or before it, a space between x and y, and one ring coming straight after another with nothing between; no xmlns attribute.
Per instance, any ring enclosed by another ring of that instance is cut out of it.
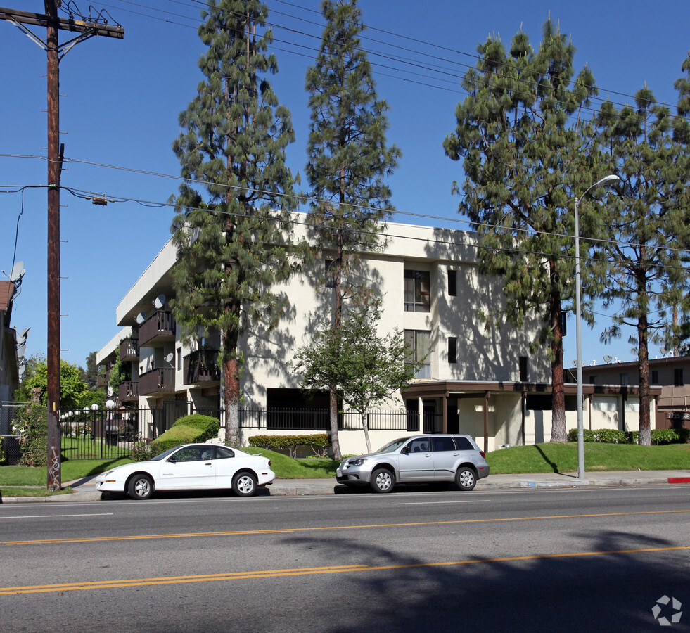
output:
<svg viewBox="0 0 690 633"><path fill-rule="evenodd" d="M599 173L584 120L594 77L587 67L575 76L575 46L550 18L537 52L522 31L509 51L490 37L478 52L443 146L463 161L454 190L479 234L480 271L504 278L506 304L483 316L517 327L541 321L535 345L547 345L551 360L551 441L566 442L562 314L574 295L573 198Z"/></svg>

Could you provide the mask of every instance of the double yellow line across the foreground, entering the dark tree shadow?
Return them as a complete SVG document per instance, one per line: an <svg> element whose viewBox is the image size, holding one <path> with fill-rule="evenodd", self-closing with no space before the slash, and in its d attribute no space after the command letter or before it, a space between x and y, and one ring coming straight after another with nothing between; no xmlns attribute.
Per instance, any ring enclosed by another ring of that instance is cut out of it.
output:
<svg viewBox="0 0 690 633"><path fill-rule="evenodd" d="M407 565L338 565L336 567L310 567L297 569L258 570L248 572L228 572L192 576L163 576L158 578L132 578L124 580L90 580L61 584L35 584L26 587L0 587L0 596L17 594L46 594L54 592L77 592L86 589L116 589L120 587L151 587L162 584L186 582L218 582L221 580L254 580L257 578L281 578L316 574L342 574L352 572L390 571L414 568L452 567L457 565L476 565L478 563L511 563L519 561L547 560L549 558L582 558L584 556L607 556L611 554L645 554L649 552L680 551L690 549L690 545L669 547L645 547L642 549L615 549L608 551L575 551L564 554L534 554L531 556L502 556L501 558L475 558L468 561L444 561L441 563L409 563Z"/></svg>

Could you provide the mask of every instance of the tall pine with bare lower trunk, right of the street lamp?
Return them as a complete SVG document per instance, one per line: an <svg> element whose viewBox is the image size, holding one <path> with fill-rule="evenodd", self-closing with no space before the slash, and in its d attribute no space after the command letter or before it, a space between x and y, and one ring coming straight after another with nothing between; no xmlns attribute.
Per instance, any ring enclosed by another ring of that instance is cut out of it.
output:
<svg viewBox="0 0 690 633"><path fill-rule="evenodd" d="M639 371L639 443L651 445L649 343L672 335L674 309L686 297L688 175L681 146L673 139L667 106L656 103L647 87L635 106L616 109L609 101L599 114L599 139L620 177L617 195L601 210L609 239L594 244L590 268L599 269L597 294L613 308L613 324L604 341L633 328Z"/></svg>

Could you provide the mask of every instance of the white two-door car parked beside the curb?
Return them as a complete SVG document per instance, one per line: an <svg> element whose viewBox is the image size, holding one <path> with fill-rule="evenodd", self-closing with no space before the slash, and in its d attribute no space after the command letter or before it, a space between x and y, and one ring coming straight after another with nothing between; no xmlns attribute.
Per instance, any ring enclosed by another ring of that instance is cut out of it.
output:
<svg viewBox="0 0 690 633"><path fill-rule="evenodd" d="M96 490L127 492L132 499L148 499L155 490L232 488L251 497L257 487L271 485L276 473L271 461L236 448L214 444L185 444L155 456L117 466L96 477Z"/></svg>

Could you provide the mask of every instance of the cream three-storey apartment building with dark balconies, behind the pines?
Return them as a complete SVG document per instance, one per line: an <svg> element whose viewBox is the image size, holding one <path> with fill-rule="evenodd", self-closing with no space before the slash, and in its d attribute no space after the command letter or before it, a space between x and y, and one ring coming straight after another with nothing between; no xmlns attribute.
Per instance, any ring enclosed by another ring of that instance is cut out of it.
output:
<svg viewBox="0 0 690 633"><path fill-rule="evenodd" d="M384 250L362 253L355 274L383 301L379 333L404 331L423 366L409 389L381 407L404 412L407 421L372 425L373 445L420 431L468 433L486 450L549 441L550 364L545 350L530 353L538 324L485 325L481 314L500 309L506 299L501 280L478 271L475 234L391 223L385 238ZM307 423L309 412L328 407L325 393L302 391L290 360L330 319L333 291L321 280L332 257L321 250L312 267L274 288L290 302L286 318L271 331L257 324L241 341L242 409L301 411L305 423L288 430L266 423L264 417L241 429L243 442L255 433L317 428ZM176 250L168 241L117 305L117 326L122 329L98 352L97 362L108 364L117 349L121 361L129 363L129 379L111 394L120 403L141 409L218 411L219 336L181 343L170 310L175 261ZM574 384L566 385L566 394L572 404ZM573 419L568 423L575 426L575 407L569 408ZM344 453L364 449L357 423L344 422L339 439Z"/></svg>

